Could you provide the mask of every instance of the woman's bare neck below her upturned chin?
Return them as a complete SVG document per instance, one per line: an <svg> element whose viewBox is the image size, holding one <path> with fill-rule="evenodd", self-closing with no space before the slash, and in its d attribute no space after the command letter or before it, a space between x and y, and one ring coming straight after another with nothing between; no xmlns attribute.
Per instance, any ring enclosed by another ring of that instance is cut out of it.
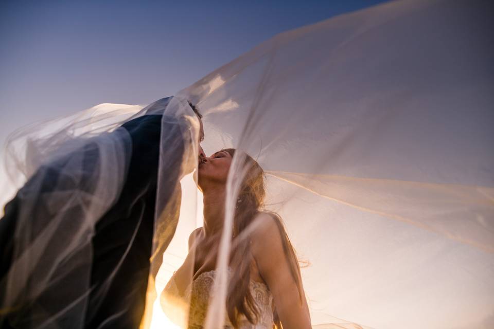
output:
<svg viewBox="0 0 494 329"><path fill-rule="evenodd" d="M211 188L204 193L204 231L206 236L221 233L225 215L224 187Z"/></svg>

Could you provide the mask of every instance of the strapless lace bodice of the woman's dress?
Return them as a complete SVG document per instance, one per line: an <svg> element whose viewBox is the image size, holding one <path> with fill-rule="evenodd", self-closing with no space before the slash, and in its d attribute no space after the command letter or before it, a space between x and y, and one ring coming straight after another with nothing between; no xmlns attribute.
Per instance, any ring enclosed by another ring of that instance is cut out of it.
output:
<svg viewBox="0 0 494 329"><path fill-rule="evenodd" d="M215 280L215 270L201 273L185 291L183 299L190 301L189 309L189 329L201 329L203 327L206 313L207 304L209 300L209 291L213 287ZM230 274L230 273L229 273ZM261 282L250 280L249 289L252 297L260 310L259 321L255 325L250 323L244 316L240 317L239 329L272 329L273 327L273 310L272 302L273 296L268 289L268 286ZM177 296L179 295L179 289L175 284L175 276L173 275L165 287L164 294ZM233 325L225 316L225 329L233 329Z"/></svg>

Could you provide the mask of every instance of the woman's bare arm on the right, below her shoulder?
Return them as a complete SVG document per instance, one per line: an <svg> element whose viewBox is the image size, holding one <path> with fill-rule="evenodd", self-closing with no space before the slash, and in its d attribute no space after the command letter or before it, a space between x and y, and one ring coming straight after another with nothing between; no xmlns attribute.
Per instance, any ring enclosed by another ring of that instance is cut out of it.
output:
<svg viewBox="0 0 494 329"><path fill-rule="evenodd" d="M270 215L261 216L262 224L252 236L251 250L260 275L273 295L281 324L284 329L311 328L307 300L305 294L302 300L299 296L278 225ZM298 270L297 276L302 285Z"/></svg>

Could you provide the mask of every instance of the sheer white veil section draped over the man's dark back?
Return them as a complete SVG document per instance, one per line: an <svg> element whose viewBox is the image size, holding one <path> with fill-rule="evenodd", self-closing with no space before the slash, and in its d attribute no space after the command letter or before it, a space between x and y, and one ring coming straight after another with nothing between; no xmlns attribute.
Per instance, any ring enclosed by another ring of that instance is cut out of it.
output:
<svg viewBox="0 0 494 329"><path fill-rule="evenodd" d="M0 306L13 326L84 323L91 236L121 191L130 157L130 136L124 130L107 131L142 108L102 105L9 137L6 170L21 189L1 223L8 226L2 247L10 245L2 250L10 254L3 266L10 266L0 277ZM62 290L64 297L55 298Z"/></svg>

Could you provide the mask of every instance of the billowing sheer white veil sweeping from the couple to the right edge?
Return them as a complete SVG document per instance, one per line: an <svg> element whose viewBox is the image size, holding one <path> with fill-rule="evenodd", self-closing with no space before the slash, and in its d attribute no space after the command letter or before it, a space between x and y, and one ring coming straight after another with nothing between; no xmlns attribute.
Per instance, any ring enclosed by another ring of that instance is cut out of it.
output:
<svg viewBox="0 0 494 329"><path fill-rule="evenodd" d="M279 34L167 105L168 114L181 115L185 100L198 104L207 154L234 147L266 171L266 208L280 214L299 257L310 264L302 279L313 327L494 326L493 18L488 2L385 3ZM115 121L128 119L122 118ZM111 127L90 121L81 129ZM197 122L191 127L197 136ZM121 161L118 143L110 149L108 161ZM187 166L195 152L191 143ZM240 162L234 159L228 179L205 329L222 328L226 318ZM114 184L110 192L95 189L96 210L87 222L118 194L120 163L115 172L102 171L98 184ZM164 209L159 195L157 202ZM158 291L201 223L201 196L186 177ZM160 241L157 234L154 250ZM153 264L156 258L160 252ZM154 281L150 286L149 305Z"/></svg>

